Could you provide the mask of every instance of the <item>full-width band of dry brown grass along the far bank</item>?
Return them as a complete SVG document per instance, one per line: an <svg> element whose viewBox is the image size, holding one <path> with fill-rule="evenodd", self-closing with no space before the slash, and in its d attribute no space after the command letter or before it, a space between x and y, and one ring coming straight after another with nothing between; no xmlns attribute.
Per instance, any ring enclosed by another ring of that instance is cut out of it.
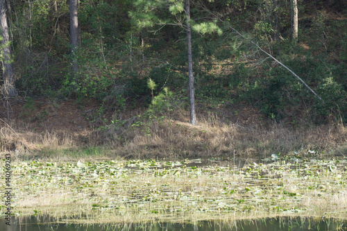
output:
<svg viewBox="0 0 347 231"><path fill-rule="evenodd" d="M92 133L87 130L37 133L28 128L12 128L1 121L1 151L17 150L24 156L33 156L42 150L66 153L64 151L71 149L103 146L108 153L99 153L100 156L136 158L265 157L308 150L346 155L347 128L341 123L302 124L298 128L274 122L265 126L259 123L239 126L210 114L201 118L198 126L192 126L186 122L187 118L187 112L182 111L162 120L133 118L123 126L111 125ZM134 123L139 126L133 126Z"/></svg>

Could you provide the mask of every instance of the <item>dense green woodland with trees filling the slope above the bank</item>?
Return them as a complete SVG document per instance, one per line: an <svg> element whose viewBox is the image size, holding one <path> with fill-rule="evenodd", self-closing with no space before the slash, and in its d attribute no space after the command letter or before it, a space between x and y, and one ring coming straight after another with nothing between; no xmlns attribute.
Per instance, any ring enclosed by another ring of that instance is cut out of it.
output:
<svg viewBox="0 0 347 231"><path fill-rule="evenodd" d="M97 102L88 119L116 127L142 126L137 108L159 120L180 108L193 125L240 105L292 127L347 119L345 1L1 0L0 11L3 102Z"/></svg>

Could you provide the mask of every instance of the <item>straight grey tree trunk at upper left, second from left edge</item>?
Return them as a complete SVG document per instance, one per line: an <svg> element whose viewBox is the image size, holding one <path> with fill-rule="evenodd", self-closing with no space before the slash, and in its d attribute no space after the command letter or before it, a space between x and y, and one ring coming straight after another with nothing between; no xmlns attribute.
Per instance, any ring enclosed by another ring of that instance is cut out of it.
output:
<svg viewBox="0 0 347 231"><path fill-rule="evenodd" d="M74 78L77 76L78 64L76 57L76 49L78 48L78 17L77 17L77 0L70 0L70 44L72 56L72 74Z"/></svg>

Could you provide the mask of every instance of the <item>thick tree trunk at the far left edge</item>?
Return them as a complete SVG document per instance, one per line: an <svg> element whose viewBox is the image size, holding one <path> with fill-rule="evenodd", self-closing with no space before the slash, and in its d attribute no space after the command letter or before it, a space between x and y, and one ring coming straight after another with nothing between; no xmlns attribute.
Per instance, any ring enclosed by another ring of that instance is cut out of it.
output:
<svg viewBox="0 0 347 231"><path fill-rule="evenodd" d="M3 67L3 93L8 97L17 96L15 87L15 75L13 74L10 39L8 36L8 24L6 17L5 0L0 0L0 24L1 24L1 49L2 49L2 67Z"/></svg>

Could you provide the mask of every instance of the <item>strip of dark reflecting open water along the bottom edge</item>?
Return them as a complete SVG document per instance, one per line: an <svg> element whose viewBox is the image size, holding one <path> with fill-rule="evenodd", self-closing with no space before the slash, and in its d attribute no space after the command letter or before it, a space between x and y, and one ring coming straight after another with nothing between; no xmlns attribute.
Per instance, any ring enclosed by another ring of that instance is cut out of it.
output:
<svg viewBox="0 0 347 231"><path fill-rule="evenodd" d="M103 225L81 225L57 223L50 216L31 216L15 219L12 217L11 225L6 225L5 219L0 219L0 230L8 231L162 231L162 230L201 230L201 231L303 231L303 230L347 230L347 221L319 220L305 218L269 218L257 220L234 221L231 223L216 221L201 221L195 224L179 223L151 223L151 224L103 224ZM60 221L61 222L61 221Z"/></svg>

